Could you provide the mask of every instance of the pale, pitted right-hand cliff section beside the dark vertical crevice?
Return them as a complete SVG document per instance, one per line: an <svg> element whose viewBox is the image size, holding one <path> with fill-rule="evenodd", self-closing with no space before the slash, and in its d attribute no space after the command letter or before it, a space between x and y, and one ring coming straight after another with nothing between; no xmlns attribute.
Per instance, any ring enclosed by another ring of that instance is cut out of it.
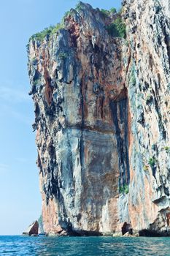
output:
<svg viewBox="0 0 170 256"><path fill-rule="evenodd" d="M169 9L164 1L123 5L131 48L129 213L138 229L169 230Z"/></svg>

